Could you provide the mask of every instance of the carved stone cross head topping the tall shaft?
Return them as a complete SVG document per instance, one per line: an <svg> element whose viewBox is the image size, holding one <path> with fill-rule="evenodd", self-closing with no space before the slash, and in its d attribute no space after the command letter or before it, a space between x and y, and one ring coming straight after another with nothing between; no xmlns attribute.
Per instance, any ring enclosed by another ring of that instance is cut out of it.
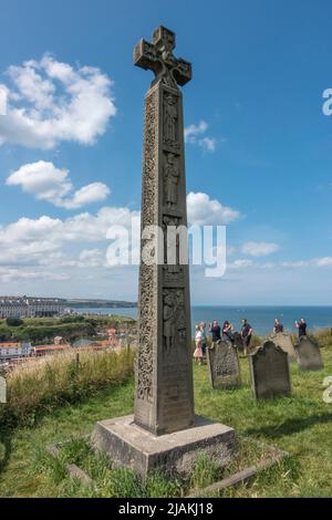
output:
<svg viewBox="0 0 332 520"><path fill-rule="evenodd" d="M173 54L175 33L165 27L158 27L152 43L141 40L134 49L134 64L155 73L154 83L160 81L177 89L191 80L191 63Z"/></svg>

